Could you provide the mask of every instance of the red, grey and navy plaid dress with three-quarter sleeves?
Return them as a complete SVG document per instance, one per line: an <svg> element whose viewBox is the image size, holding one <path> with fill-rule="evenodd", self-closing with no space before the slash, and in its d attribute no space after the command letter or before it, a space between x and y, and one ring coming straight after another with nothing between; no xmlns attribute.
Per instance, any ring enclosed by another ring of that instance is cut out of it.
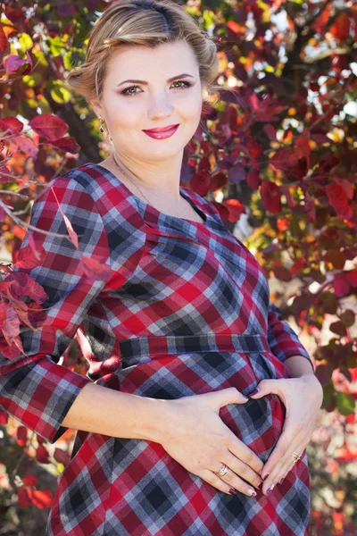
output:
<svg viewBox="0 0 357 536"><path fill-rule="evenodd" d="M0 356L0 404L38 435L50 443L62 436L62 421L88 382L151 398L231 386L249 395L264 378L289 378L287 357L311 362L270 303L262 267L212 203L181 187L204 222L162 214L95 163L49 186L32 206L32 225L67 234L55 192L80 252L108 264L112 275L89 280L69 240L30 231L46 259L28 272L46 289L49 308L42 328L21 327L27 356ZM27 234L22 247L28 243ZM59 363L76 333L86 377ZM265 462L285 406L268 395L223 406L220 417ZM159 443L78 431L46 534L304 536L309 511L306 451L269 497L260 490L256 498L230 496Z"/></svg>

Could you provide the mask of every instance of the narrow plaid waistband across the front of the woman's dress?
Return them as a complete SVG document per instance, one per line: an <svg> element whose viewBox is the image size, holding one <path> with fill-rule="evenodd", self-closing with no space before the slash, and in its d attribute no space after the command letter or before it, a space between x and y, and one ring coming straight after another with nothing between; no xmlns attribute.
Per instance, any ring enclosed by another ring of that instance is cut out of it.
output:
<svg viewBox="0 0 357 536"><path fill-rule="evenodd" d="M190 354L195 352L264 352L270 351L266 335L236 333L201 333L200 335L149 335L120 340L123 357L151 354Z"/></svg>

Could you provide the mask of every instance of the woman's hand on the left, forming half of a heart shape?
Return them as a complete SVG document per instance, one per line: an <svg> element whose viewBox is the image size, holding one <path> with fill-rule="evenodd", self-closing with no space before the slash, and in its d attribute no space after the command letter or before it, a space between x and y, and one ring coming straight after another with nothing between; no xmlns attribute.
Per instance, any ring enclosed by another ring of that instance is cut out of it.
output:
<svg viewBox="0 0 357 536"><path fill-rule="evenodd" d="M245 404L247 400L234 387L166 400L166 405L170 403L166 414L169 418L161 423L161 437L157 441L187 471L217 490L229 493L234 488L251 496L249 490L253 489L247 482L258 488L264 464L219 415L221 406ZM228 466L228 473L220 477L214 473L222 464Z"/></svg>

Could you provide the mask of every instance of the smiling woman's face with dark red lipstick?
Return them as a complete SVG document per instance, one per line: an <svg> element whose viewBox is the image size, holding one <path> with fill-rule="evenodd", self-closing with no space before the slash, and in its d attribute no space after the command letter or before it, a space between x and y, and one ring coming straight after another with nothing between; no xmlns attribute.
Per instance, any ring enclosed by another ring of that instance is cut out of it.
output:
<svg viewBox="0 0 357 536"><path fill-rule="evenodd" d="M121 48L108 63L102 101L94 108L120 155L157 161L182 153L199 125L202 102L195 56L179 41L156 48ZM170 138L150 138L143 131L178 123Z"/></svg>

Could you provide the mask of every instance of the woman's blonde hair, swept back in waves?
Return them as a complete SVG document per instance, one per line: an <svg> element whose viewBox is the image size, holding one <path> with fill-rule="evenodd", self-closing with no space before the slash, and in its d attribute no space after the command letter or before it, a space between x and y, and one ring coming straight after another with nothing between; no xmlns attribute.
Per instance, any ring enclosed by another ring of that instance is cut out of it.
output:
<svg viewBox="0 0 357 536"><path fill-rule="evenodd" d="M109 5L89 32L86 61L70 71L67 83L87 102L100 102L107 64L120 46L155 47L185 40L199 66L208 98L221 86L217 47L192 16L173 0L118 0ZM224 88L229 91L229 88Z"/></svg>

